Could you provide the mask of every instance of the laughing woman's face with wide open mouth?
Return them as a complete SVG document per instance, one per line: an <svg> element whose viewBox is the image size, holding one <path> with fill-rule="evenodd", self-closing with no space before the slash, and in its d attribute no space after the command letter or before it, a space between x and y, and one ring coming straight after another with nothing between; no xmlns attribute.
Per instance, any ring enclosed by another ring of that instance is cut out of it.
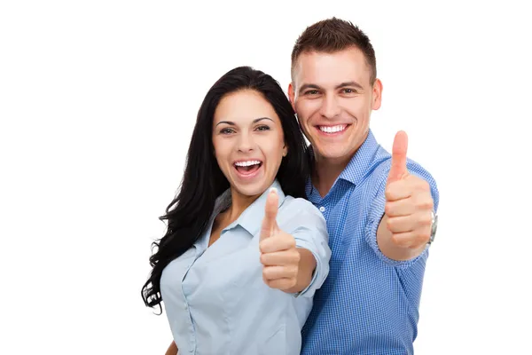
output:
<svg viewBox="0 0 532 355"><path fill-rule="evenodd" d="M287 154L278 115L254 90L232 92L220 100L213 144L223 175L232 189L245 196L266 191Z"/></svg>

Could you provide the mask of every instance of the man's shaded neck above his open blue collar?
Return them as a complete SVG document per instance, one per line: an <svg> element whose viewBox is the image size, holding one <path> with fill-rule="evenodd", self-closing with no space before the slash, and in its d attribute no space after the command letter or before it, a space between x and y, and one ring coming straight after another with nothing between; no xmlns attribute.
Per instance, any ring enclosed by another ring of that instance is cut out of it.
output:
<svg viewBox="0 0 532 355"><path fill-rule="evenodd" d="M325 197L334 185L334 182L340 177L341 172L346 169L351 156L337 159L329 159L315 155L315 167L312 172L312 185L316 186L317 192L321 197Z"/></svg>

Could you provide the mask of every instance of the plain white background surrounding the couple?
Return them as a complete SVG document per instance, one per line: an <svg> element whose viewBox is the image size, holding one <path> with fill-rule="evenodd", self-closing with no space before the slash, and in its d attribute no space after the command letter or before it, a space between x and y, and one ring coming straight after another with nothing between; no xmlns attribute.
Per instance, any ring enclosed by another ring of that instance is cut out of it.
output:
<svg viewBox="0 0 532 355"><path fill-rule="evenodd" d="M406 130L440 188L416 353L530 351L532 28L486 3L2 2L0 353L164 353L140 288L200 102L239 65L286 89L331 16L372 39L379 142Z"/></svg>

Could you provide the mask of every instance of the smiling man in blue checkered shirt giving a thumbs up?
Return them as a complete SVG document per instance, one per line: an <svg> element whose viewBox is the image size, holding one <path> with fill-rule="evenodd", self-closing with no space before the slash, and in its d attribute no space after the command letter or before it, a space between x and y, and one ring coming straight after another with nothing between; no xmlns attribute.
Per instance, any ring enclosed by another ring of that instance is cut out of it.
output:
<svg viewBox="0 0 532 355"><path fill-rule="evenodd" d="M368 37L336 18L307 28L293 47L288 95L314 157L307 193L332 248L304 355L413 353L439 193L406 158L405 132L390 155L370 130L382 93L375 62Z"/></svg>

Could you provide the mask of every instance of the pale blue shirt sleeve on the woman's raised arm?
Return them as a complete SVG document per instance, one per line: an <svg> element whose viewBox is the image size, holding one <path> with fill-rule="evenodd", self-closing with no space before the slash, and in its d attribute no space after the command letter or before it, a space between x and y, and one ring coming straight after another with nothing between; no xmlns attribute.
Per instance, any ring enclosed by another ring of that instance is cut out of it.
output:
<svg viewBox="0 0 532 355"><path fill-rule="evenodd" d="M329 274L331 259L329 234L325 217L321 212L309 201L297 200L299 200L296 202L297 208L290 207L292 213L287 218L285 231L293 236L297 248L306 248L312 253L316 259L316 269L309 286L294 296L312 297Z"/></svg>

